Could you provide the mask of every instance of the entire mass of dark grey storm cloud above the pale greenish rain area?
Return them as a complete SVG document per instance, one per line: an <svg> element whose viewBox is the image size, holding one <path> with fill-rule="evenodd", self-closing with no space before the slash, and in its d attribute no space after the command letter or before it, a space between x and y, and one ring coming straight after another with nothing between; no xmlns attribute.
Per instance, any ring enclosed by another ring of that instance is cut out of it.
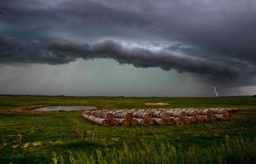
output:
<svg viewBox="0 0 256 164"><path fill-rule="evenodd" d="M16 40L1 39L0 62L62 64L80 57L104 57L200 75L254 74L255 17L254 0L2 0L0 25L6 27L2 35ZM88 43L88 39L112 36L191 46L175 44L153 52L111 41ZM54 37L65 37L66 42L56 42ZM77 38L83 38L83 43L72 42Z"/></svg>

